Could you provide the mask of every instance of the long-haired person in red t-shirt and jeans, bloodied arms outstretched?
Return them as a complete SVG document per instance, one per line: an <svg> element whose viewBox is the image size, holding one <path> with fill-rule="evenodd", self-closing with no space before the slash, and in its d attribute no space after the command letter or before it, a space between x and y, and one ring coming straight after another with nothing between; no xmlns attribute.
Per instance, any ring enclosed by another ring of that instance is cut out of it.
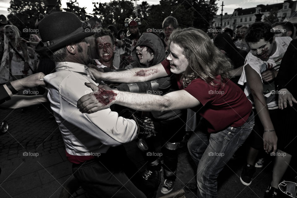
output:
<svg viewBox="0 0 297 198"><path fill-rule="evenodd" d="M252 104L228 78L231 69L231 63L205 32L176 29L170 36L170 54L160 64L122 72L92 70L92 73L100 80L125 83L175 74L180 90L159 96L86 84L94 92L81 97L78 107L82 113L93 113L112 104L141 111L194 109L202 116L188 141L189 152L197 165L197 195L217 197L218 174L254 125Z"/></svg>

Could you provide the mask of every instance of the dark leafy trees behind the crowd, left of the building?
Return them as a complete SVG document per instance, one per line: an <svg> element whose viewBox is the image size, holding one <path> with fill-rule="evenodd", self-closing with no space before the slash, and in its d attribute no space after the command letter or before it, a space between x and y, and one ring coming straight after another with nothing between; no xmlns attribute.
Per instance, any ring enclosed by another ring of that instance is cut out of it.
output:
<svg viewBox="0 0 297 198"><path fill-rule="evenodd" d="M11 0L8 19L22 32L23 28L34 28L39 13L45 14L47 0ZM175 17L179 27L195 27L206 30L217 12L216 0L160 0L158 5L149 5L144 1L137 5L137 17L141 19L140 32L147 28L161 29L167 16ZM113 0L101 3L93 0L93 13L86 13L85 7L80 7L77 0L67 1L64 11L73 12L86 18L97 16L102 20L102 26L112 24L119 29L124 28L126 18L135 19L135 3L129 0ZM59 7L60 5L58 5ZM61 7L58 9L61 10ZM28 36L25 32L23 35Z"/></svg>

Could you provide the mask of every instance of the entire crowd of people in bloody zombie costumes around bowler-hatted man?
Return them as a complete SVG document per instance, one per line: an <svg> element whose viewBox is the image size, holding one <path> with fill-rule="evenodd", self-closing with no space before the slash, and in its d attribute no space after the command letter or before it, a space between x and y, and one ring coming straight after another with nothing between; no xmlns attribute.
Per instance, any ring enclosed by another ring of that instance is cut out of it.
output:
<svg viewBox="0 0 297 198"><path fill-rule="evenodd" d="M296 24L206 33L180 29L168 16L163 33L141 33L136 20L117 30L97 17L54 12L39 15L39 34L26 40L5 16L0 22L0 104L50 102L75 176L60 197L79 186L89 197L155 197L162 167L161 193L168 194L187 134L197 197L220 196L217 177L244 143L246 186L265 153L279 153L265 192L277 197L297 143ZM17 96L37 86L44 95ZM144 172L126 155L123 144L131 141L143 153ZM157 143L162 157L148 155L158 152Z"/></svg>

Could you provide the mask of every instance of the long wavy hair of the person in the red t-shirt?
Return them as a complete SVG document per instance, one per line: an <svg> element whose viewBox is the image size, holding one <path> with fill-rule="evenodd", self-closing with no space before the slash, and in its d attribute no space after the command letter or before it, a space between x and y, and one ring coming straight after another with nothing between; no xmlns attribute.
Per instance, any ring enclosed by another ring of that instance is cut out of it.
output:
<svg viewBox="0 0 297 198"><path fill-rule="evenodd" d="M228 71L233 69L233 65L202 30L174 29L169 38L169 45L171 42L184 49L183 55L189 62L182 75L185 87L197 78L212 85L217 84L217 75L221 75L223 83L229 78Z"/></svg>

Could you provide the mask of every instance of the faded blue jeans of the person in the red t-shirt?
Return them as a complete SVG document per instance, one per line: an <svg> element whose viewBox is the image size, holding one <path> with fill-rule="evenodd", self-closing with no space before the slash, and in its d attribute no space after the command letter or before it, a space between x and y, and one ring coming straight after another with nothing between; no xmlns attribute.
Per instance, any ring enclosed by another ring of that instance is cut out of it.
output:
<svg viewBox="0 0 297 198"><path fill-rule="evenodd" d="M197 167L197 196L217 197L217 176L244 143L254 126L252 112L241 127L228 127L217 133L208 133L201 120L188 141L188 149Z"/></svg>

